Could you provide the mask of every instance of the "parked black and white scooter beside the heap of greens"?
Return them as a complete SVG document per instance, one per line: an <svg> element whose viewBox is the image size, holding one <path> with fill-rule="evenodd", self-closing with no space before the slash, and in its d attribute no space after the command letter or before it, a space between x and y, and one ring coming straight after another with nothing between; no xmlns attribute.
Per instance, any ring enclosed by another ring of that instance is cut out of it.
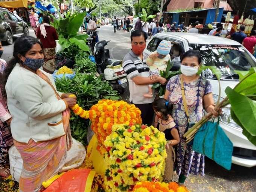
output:
<svg viewBox="0 0 256 192"><path fill-rule="evenodd" d="M122 61L110 59L109 49L105 46L109 41L99 41L94 47L94 58L97 66L97 71L100 75L110 82L110 85L117 90L120 94L125 91L128 86L126 73L122 67Z"/></svg>

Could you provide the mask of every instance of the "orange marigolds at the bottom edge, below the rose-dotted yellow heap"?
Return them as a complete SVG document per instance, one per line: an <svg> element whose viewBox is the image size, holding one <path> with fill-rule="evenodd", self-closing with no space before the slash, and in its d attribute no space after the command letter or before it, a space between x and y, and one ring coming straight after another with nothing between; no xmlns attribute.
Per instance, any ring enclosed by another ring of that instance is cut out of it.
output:
<svg viewBox="0 0 256 192"><path fill-rule="evenodd" d="M133 192L189 192L186 187L179 187L177 183L160 183L142 181L137 182L133 188Z"/></svg>

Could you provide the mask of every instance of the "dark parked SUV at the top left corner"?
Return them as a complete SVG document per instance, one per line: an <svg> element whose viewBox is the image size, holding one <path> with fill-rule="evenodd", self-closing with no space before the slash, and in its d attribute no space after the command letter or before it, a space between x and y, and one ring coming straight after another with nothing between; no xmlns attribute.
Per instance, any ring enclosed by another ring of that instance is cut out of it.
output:
<svg viewBox="0 0 256 192"><path fill-rule="evenodd" d="M20 17L8 9L0 8L0 40L11 45L14 37L29 35L29 27Z"/></svg>

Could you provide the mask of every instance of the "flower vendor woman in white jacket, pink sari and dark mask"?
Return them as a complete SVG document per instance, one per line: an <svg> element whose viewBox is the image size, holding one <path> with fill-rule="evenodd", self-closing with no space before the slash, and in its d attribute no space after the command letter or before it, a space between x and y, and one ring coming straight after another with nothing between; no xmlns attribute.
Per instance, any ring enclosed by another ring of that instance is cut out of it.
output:
<svg viewBox="0 0 256 192"><path fill-rule="evenodd" d="M14 145L23 159L20 192L38 192L58 173L72 145L69 117L76 98L56 91L52 75L40 70L43 46L34 37L15 41L5 75ZM2 90L3 91L3 90Z"/></svg>

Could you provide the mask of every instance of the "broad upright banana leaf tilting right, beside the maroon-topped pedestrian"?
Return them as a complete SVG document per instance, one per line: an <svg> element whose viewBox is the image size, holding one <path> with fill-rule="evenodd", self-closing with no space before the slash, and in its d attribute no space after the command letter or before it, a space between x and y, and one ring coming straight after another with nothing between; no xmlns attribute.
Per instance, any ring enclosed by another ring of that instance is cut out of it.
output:
<svg viewBox="0 0 256 192"><path fill-rule="evenodd" d="M69 25L67 29L70 37L77 34L79 27L81 27L84 21L85 15L86 12L72 15L71 19L69 20Z"/></svg>

